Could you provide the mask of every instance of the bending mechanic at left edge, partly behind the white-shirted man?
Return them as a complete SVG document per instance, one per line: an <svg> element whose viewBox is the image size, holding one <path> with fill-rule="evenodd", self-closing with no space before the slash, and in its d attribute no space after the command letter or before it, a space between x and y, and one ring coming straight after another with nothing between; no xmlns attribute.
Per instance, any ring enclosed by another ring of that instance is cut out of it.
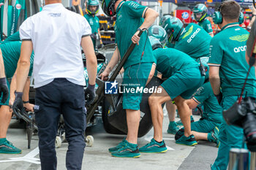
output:
<svg viewBox="0 0 256 170"><path fill-rule="evenodd" d="M10 106L13 104L15 100L14 91L16 89L16 75L15 70L17 68L17 63L20 58L20 47L21 42L6 42L0 45L0 58L3 58L4 63L4 72L7 78L12 78L11 85L9 82L4 79L4 82L1 82L1 85L7 85L10 88L10 96L8 96L6 101L1 101L0 105L0 153L20 153L21 150L17 147L13 146L11 142L6 139L7 129L10 124L10 120L12 118L12 110ZM31 77L31 73L33 70L33 61L34 61L34 53L31 55L30 59L30 69L29 69L29 77ZM29 85L30 79L26 80L26 85L23 90L23 107L26 110L33 112L33 104L29 104ZM1 99L4 99L3 97Z"/></svg>

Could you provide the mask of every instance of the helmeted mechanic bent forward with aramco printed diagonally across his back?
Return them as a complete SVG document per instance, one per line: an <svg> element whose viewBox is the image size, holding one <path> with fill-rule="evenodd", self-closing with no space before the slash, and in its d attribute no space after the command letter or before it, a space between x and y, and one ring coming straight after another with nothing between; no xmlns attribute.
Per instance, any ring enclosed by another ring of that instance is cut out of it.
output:
<svg viewBox="0 0 256 170"><path fill-rule="evenodd" d="M198 63L207 63L209 56L209 45L211 36L207 34L200 26L195 23L189 23L186 28L180 19L169 17L162 23L167 32L167 47L173 46L176 50L180 50ZM171 45L171 46L170 46ZM170 119L167 133L176 134L178 127L175 120L176 107L170 101L166 103L167 111ZM191 121L193 121L191 117Z"/></svg>

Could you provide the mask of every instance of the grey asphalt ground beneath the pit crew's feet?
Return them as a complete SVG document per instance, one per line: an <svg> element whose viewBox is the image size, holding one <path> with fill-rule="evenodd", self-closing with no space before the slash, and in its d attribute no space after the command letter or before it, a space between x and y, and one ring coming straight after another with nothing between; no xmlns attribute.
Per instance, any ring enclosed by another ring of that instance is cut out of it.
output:
<svg viewBox="0 0 256 170"><path fill-rule="evenodd" d="M166 114L166 112L165 112ZM198 120L198 116L194 116ZM178 120L178 119L177 119ZM116 146L124 138L121 135L107 134L103 128L102 121L94 127L88 128L86 135L94 136L93 147L86 147L83 167L86 170L128 170L128 169L168 169L168 170L191 170L191 169L210 169L210 164L214 162L217 156L217 147L215 144L201 141L196 147L187 147L175 144L174 136L167 134L167 115L164 117L163 137L169 150L165 153L147 154L142 153L140 158L114 158L108 152L109 147ZM153 136L153 129L146 136L138 139L139 147L148 143ZM27 149L26 130L24 125L20 125L12 120L8 130L7 139L16 147L23 150L19 155L0 154L1 170L37 170L40 169L38 155L38 137L33 136L31 149ZM58 169L66 169L65 155L67 152L67 143L63 143L60 148L56 149L58 158ZM27 155L29 154L29 155ZM25 158L20 158L24 157ZM13 160L13 158L16 158ZM26 159L29 158L29 159ZM21 159L21 160L20 160ZM30 162L29 162L29 161ZM7 162L8 161L8 162Z"/></svg>

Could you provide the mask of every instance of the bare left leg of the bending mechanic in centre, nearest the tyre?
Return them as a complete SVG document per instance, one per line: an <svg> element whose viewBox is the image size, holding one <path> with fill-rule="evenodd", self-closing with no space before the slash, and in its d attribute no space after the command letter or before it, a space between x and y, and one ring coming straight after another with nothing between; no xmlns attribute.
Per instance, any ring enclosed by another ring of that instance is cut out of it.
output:
<svg viewBox="0 0 256 170"><path fill-rule="evenodd" d="M159 86L162 88L162 86ZM151 110L152 122L154 125L154 139L157 142L162 142L162 104L165 101L170 101L170 96L167 94L164 88L162 88L162 93L153 93L148 98L148 104Z"/></svg>

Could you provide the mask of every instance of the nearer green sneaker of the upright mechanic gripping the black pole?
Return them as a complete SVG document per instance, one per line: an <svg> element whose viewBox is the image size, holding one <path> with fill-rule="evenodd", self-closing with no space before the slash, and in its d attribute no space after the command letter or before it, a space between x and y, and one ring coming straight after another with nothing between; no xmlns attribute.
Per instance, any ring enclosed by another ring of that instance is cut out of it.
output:
<svg viewBox="0 0 256 170"><path fill-rule="evenodd" d="M121 147L119 150L111 152L111 155L121 158L139 158L140 152L137 144L132 144L125 140L123 147Z"/></svg>

